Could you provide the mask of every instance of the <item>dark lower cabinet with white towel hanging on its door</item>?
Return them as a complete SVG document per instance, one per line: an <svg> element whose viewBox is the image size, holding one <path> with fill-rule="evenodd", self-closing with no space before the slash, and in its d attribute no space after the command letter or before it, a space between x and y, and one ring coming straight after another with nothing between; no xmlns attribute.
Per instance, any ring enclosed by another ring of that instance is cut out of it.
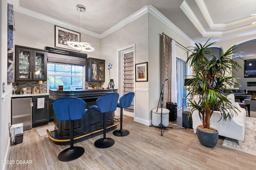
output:
<svg viewBox="0 0 256 170"><path fill-rule="evenodd" d="M38 108L38 98L44 98L44 108ZM33 96L32 97L32 125L36 127L38 125L48 124L49 121L49 96Z"/></svg>

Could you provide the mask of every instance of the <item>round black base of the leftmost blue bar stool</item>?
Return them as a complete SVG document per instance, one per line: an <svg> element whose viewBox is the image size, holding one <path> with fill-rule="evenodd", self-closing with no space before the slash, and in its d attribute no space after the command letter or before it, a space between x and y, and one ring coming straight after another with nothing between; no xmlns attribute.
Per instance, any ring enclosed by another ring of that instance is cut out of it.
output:
<svg viewBox="0 0 256 170"><path fill-rule="evenodd" d="M83 147L73 147L73 149L67 148L62 150L58 155L58 159L62 162L68 162L75 160L84 154Z"/></svg>

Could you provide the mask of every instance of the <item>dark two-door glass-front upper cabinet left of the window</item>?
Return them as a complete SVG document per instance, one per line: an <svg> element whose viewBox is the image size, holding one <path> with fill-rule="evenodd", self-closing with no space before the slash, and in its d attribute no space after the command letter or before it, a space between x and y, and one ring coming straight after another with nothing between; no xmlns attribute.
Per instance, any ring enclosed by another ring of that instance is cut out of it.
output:
<svg viewBox="0 0 256 170"><path fill-rule="evenodd" d="M16 80L47 79L47 51L29 47L15 46Z"/></svg>

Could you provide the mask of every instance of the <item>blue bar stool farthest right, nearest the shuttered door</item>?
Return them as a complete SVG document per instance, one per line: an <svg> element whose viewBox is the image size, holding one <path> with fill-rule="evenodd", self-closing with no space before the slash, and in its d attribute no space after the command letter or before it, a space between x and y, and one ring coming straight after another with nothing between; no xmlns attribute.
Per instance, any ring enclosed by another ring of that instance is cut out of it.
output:
<svg viewBox="0 0 256 170"><path fill-rule="evenodd" d="M117 104L117 107L121 108L121 111L120 111L120 130L115 130L113 132L113 134L115 136L123 137L123 136L129 135L129 133L130 133L128 130L123 129L123 125L122 125L123 124L123 108L130 107L131 104L132 104L133 98L134 98L134 92L130 92L130 93L127 93L124 96L120 97L120 99L119 99L120 103Z"/></svg>

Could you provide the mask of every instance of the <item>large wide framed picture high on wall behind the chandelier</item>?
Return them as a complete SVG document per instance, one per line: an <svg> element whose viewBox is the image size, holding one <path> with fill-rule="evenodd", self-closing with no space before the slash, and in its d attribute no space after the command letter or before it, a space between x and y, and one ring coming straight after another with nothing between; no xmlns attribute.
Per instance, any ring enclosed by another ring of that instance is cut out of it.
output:
<svg viewBox="0 0 256 170"><path fill-rule="evenodd" d="M68 46L68 41L80 42L80 33L55 25L55 47L80 51Z"/></svg>

